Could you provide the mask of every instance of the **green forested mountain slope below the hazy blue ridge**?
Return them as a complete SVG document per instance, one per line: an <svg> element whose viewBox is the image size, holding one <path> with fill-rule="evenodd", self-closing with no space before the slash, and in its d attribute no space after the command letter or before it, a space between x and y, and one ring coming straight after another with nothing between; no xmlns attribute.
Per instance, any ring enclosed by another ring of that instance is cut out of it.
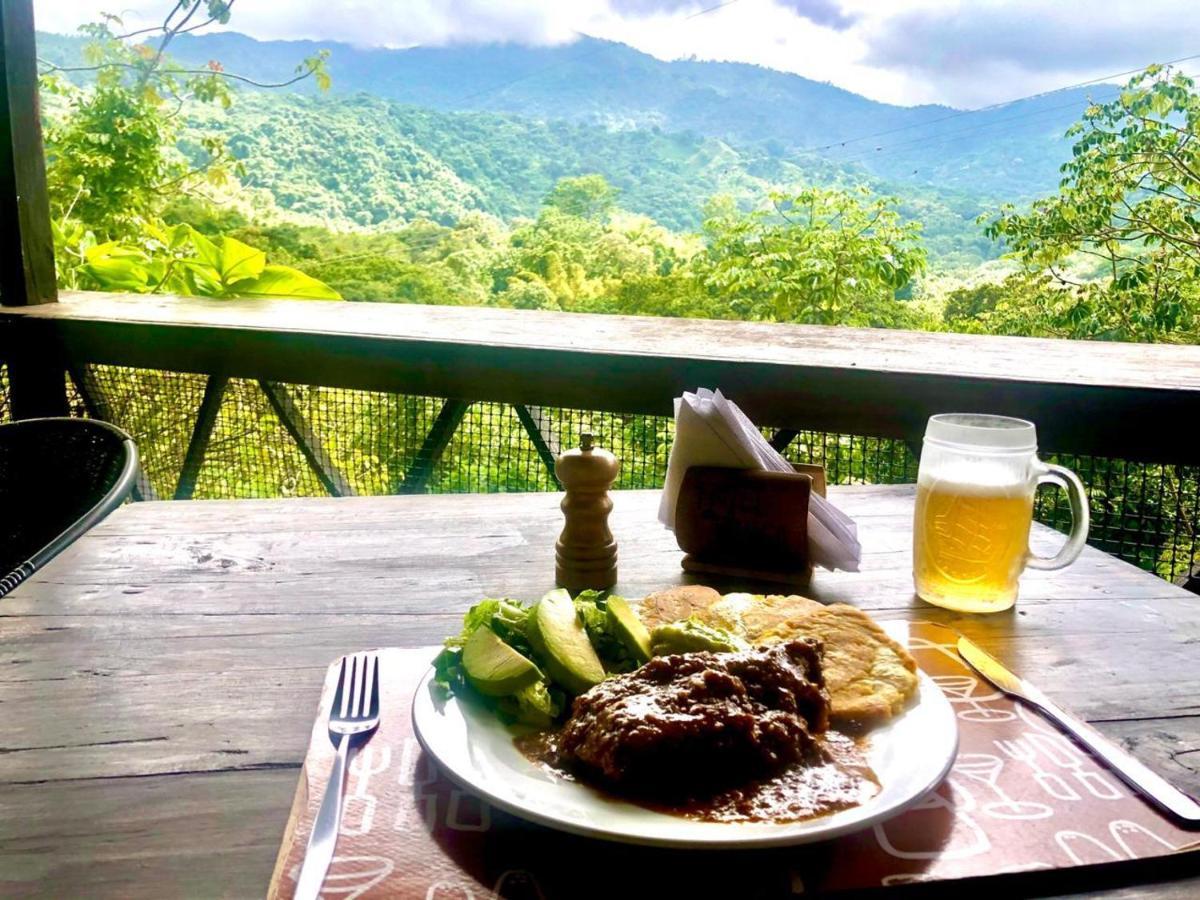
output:
<svg viewBox="0 0 1200 900"><path fill-rule="evenodd" d="M245 94L229 113L200 109L181 149L204 158L199 136L220 132L247 187L300 220L334 227L450 224L468 212L534 216L559 178L599 173L619 204L668 228L697 230L704 202L728 193L750 205L775 185L869 181L905 198L925 223L935 258L995 254L974 226L972 196L890 185L854 167L739 149L695 132L613 131L599 125L494 113L445 113L367 95Z"/></svg>

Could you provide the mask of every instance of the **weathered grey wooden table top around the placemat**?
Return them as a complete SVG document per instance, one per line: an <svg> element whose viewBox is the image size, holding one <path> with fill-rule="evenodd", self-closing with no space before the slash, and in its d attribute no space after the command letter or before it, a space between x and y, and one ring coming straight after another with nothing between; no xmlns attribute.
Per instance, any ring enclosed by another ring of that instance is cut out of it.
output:
<svg viewBox="0 0 1200 900"><path fill-rule="evenodd" d="M805 593L971 635L1200 792L1200 598L1090 548L1064 571L1026 574L1013 612L935 610L912 595L912 488L830 496L859 522L863 572L818 572ZM656 500L616 497L618 590L631 596L682 580ZM0 895L260 895L329 661L437 643L485 595L540 596L552 587L558 502L115 512L0 600ZM1055 540L1038 532L1039 544ZM1194 896L1188 865L1106 895Z"/></svg>

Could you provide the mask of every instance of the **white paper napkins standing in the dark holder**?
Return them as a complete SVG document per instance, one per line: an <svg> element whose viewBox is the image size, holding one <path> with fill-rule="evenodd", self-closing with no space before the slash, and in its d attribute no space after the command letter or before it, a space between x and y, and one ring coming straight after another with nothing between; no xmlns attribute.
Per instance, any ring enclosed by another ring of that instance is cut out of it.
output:
<svg viewBox="0 0 1200 900"><path fill-rule="evenodd" d="M659 521L674 529L679 486L691 466L794 472L738 404L706 388L677 397L676 437L667 460L667 479L659 504ZM863 548L854 520L824 497L809 498L809 558L826 569L857 572Z"/></svg>

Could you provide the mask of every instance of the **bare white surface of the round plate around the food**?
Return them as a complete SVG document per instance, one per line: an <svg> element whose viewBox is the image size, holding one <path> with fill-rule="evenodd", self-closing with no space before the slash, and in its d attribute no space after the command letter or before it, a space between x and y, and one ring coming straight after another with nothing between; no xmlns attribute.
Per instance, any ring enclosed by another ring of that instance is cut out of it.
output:
<svg viewBox="0 0 1200 900"><path fill-rule="evenodd" d="M486 709L451 698L438 708L433 670L413 700L418 740L462 787L516 816L564 832L673 847L770 847L857 832L901 812L932 791L958 754L954 710L924 672L917 701L870 733L866 758L882 790L853 809L787 823L702 822L643 809L558 778L527 760Z"/></svg>

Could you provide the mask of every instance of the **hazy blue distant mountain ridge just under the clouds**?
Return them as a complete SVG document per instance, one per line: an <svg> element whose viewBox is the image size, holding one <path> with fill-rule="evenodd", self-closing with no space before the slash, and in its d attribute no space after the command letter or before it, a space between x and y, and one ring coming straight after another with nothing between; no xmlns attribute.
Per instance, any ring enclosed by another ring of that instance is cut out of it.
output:
<svg viewBox="0 0 1200 900"><path fill-rule="evenodd" d="M224 32L185 35L173 53L194 65L216 59L230 71L276 80L320 48L331 50L329 68L340 95L366 92L428 109L568 119L610 130L694 131L776 155L858 163L905 184L1013 200L1056 188L1067 154L1063 132L1088 97L1117 91L1096 85L977 113L898 107L760 66L665 62L589 37L562 47L392 50ZM314 86L296 90L313 92Z"/></svg>

